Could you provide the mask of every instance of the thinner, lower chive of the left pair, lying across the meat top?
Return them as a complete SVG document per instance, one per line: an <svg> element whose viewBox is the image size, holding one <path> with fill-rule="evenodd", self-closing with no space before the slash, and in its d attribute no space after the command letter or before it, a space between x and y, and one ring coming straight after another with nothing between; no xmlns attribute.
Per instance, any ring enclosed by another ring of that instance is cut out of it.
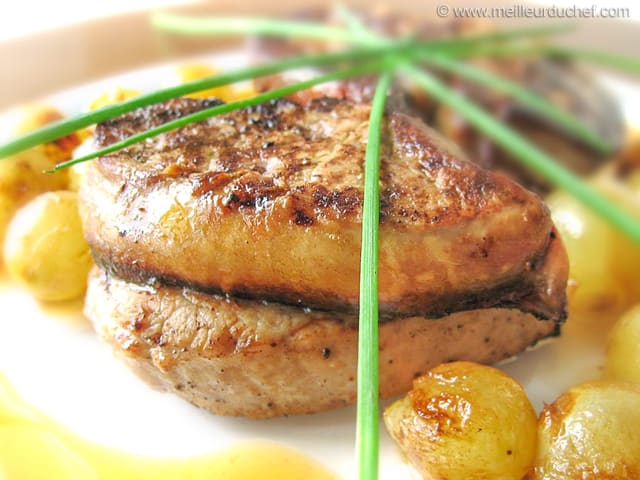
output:
<svg viewBox="0 0 640 480"><path fill-rule="evenodd" d="M342 80L345 78L351 78L357 75L365 75L368 73L373 73L376 71L380 71L383 68L385 68L385 66L387 65L387 63L385 63L385 61L381 60L381 61L376 61L376 62L370 62L368 64L364 64L364 65L360 65L357 67L351 67L345 70L339 70L336 72L331 72L331 73L327 73L325 75L320 75L318 77L309 79L309 80L305 80L302 82L298 82L295 84L291 84L291 85L286 85L284 87L281 88L277 88L274 90L270 90L268 92L265 93L261 93L259 95L256 95L255 97L251 97L251 98L246 98L243 100L238 100L236 102L230 102L230 103L225 103L222 105L217 105L215 107L211 107L211 108L207 108L204 110L200 110L198 112L195 113L191 113L189 115L185 115L184 117L180 117L176 120L172 120L170 122L167 123L163 123L162 125L159 125L157 127L154 128L150 128L148 130L145 130L144 132L132 135L130 137L125 138L124 140L121 140L119 142L113 143L111 145L109 145L108 147L102 148L100 150L97 150L95 152L91 152L87 155L84 155L82 157L79 158L73 158L71 160L68 160L66 162L62 162L59 163L58 165L56 165L53 170L51 170L51 172L49 173L53 173L53 172L57 172L59 170L62 170L64 168L68 168L71 167L73 165L76 165L78 163L82 163L82 162L86 162L88 160L92 160L94 158L103 156L103 155L107 155L109 153L113 153L116 152L118 150L122 150L123 148L129 147L131 145L134 145L136 143L140 143L144 140L147 140L149 138L153 138L156 137L162 133L166 133L169 132L171 130L175 130L177 128L181 128L184 127L185 125L188 125L190 123L194 123L194 122L199 122L201 120L206 120L207 118L213 117L215 115L222 115L224 113L229 113L232 112L234 110L239 110L241 108L245 108L245 107L250 107L252 105L258 105L260 103L266 103L269 102L271 100L275 100L277 98L281 98L281 97L285 97L287 95L291 95L292 93L296 93L299 92L301 90L306 90L307 88L311 88L315 85L321 84L321 83L326 83L326 82L330 82L330 81L334 81L334 80Z"/></svg>

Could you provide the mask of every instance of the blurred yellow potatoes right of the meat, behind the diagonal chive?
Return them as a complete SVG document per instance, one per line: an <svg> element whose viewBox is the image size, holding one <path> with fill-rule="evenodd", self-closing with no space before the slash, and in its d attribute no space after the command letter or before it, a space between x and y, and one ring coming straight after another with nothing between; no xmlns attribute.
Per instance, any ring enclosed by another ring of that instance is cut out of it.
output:
<svg viewBox="0 0 640 480"><path fill-rule="evenodd" d="M640 221L640 136L589 183ZM547 203L569 254L570 277L577 284L571 309L622 312L640 301L637 244L566 192L553 193Z"/></svg>

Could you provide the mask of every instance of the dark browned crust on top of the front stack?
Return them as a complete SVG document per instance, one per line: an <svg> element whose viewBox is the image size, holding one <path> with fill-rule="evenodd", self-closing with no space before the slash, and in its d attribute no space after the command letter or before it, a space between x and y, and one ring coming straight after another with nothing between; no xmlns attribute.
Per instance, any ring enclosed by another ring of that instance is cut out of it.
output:
<svg viewBox="0 0 640 480"><path fill-rule="evenodd" d="M218 103L185 98L140 109L100 124L95 144L104 147ZM269 102L169 132L97 163L109 180L127 180L127 190L188 177L194 195L220 196L227 214L253 216L265 202L286 196L297 204L290 222L359 222L369 110L334 98L304 108L287 100ZM448 226L505 205L539 203L516 183L468 162L419 120L402 114L389 120L382 224ZM537 208L536 214L545 216L543 207Z"/></svg>

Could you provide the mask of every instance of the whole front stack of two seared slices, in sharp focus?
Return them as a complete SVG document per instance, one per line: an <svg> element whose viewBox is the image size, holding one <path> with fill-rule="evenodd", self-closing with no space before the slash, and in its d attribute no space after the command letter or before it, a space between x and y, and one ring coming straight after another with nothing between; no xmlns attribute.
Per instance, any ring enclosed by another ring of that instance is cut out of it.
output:
<svg viewBox="0 0 640 480"><path fill-rule="evenodd" d="M211 106L178 99L98 125L96 147ZM370 105L278 100L103 156L80 189L97 268L85 311L141 377L222 415L356 395ZM541 199L387 112L380 392L450 360L494 363L559 333L567 258Z"/></svg>

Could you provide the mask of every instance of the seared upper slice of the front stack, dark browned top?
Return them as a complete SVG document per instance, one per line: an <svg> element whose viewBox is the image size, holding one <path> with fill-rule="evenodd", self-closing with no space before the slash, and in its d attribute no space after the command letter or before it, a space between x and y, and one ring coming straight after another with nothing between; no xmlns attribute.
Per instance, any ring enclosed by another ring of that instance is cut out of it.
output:
<svg viewBox="0 0 640 480"><path fill-rule="evenodd" d="M99 125L95 141L207 105L138 110ZM281 100L98 159L80 191L96 262L138 283L355 311L369 110ZM567 260L546 261L553 225L538 196L400 113L385 118L382 152L383 315L515 307L564 318Z"/></svg>

